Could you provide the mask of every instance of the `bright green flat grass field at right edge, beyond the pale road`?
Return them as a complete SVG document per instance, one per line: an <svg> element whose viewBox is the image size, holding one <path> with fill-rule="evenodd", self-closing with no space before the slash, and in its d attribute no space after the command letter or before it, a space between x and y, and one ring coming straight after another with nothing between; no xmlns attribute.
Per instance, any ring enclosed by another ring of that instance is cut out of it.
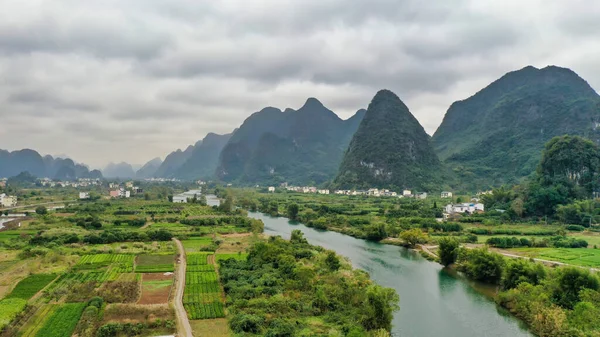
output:
<svg viewBox="0 0 600 337"><path fill-rule="evenodd" d="M585 248L514 248L510 251L520 255L557 261L574 266L600 267L600 249Z"/></svg>

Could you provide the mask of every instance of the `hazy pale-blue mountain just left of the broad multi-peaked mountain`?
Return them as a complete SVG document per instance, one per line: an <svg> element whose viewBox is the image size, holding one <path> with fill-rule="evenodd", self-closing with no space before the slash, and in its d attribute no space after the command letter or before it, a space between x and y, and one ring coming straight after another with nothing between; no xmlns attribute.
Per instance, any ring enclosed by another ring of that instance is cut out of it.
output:
<svg viewBox="0 0 600 337"><path fill-rule="evenodd" d="M174 177L183 180L211 179L219 164L219 155L229 142L231 134L209 133L196 143L190 157L175 171Z"/></svg>

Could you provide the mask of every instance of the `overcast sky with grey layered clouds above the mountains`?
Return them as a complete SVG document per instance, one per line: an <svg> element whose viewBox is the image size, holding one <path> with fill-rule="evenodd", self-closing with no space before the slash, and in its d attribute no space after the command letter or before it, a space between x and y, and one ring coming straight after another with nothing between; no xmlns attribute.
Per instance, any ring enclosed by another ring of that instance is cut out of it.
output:
<svg viewBox="0 0 600 337"><path fill-rule="evenodd" d="M318 98L394 91L429 134L509 71L600 90L600 1L0 0L0 148L143 164Z"/></svg>

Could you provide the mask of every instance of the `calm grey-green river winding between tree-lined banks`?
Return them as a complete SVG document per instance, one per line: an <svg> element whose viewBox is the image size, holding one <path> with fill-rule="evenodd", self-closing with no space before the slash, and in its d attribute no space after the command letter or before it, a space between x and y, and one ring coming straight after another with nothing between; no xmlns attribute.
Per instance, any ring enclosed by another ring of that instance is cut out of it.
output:
<svg viewBox="0 0 600 337"><path fill-rule="evenodd" d="M214 199L209 204L214 204ZM289 239L299 229L313 245L323 246L350 259L378 284L400 295L392 334L402 337L520 337L533 336L523 324L476 291L465 280L448 273L403 247L315 230L288 219L249 212L265 223L265 234Z"/></svg>

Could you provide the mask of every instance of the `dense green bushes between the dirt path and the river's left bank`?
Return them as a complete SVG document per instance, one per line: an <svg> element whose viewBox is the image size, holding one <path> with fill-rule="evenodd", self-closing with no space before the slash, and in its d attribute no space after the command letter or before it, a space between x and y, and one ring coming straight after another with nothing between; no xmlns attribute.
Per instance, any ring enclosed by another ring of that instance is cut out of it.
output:
<svg viewBox="0 0 600 337"><path fill-rule="evenodd" d="M372 284L366 273L349 270L333 252L309 245L301 235L293 241L273 237L258 242L247 260L220 264L229 325L237 334L315 336L323 329L334 335L352 327L363 332L389 330L398 309L394 290Z"/></svg>

